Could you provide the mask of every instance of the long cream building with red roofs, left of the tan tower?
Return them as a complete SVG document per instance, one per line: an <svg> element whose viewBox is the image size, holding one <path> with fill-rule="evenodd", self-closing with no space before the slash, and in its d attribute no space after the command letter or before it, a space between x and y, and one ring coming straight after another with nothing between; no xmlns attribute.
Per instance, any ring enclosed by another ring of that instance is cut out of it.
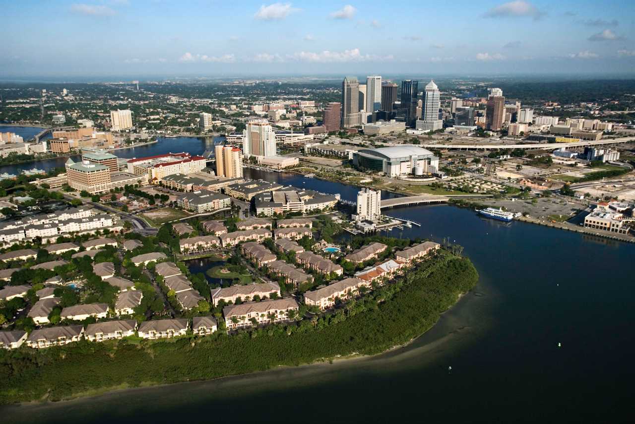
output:
<svg viewBox="0 0 635 424"><path fill-rule="evenodd" d="M128 161L128 172L147 175L149 181L157 182L167 175L192 174L206 167L206 159L190 156L189 153L166 153Z"/></svg>

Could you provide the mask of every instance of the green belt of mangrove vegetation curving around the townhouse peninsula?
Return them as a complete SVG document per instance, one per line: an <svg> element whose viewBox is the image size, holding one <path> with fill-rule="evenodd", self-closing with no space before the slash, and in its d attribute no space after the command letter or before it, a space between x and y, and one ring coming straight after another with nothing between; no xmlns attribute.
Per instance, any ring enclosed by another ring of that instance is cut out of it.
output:
<svg viewBox="0 0 635 424"><path fill-rule="evenodd" d="M124 261L125 262L125 261ZM63 400L114 388L207 380L298 366L333 357L373 355L417 338L478 282L471 261L442 250L389 284L321 315L228 335L0 352L0 404ZM222 323L220 323L222 325ZM239 354L237 354L239 352Z"/></svg>

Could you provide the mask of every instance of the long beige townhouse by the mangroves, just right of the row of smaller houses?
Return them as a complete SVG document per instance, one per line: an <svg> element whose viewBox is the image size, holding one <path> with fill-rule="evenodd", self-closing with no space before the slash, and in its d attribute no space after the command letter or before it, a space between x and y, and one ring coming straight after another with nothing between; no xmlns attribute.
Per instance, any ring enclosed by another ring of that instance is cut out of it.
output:
<svg viewBox="0 0 635 424"><path fill-rule="evenodd" d="M274 324L291 319L290 311L298 312L299 305L295 299L265 300L225 306L223 316L227 329L253 327L256 325Z"/></svg>

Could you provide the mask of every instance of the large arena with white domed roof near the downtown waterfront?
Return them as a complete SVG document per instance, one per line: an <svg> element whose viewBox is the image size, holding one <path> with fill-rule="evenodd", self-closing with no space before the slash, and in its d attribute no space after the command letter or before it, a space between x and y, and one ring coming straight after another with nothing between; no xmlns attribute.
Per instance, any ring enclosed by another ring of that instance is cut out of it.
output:
<svg viewBox="0 0 635 424"><path fill-rule="evenodd" d="M417 146L380 147L360 149L353 154L353 165L361 170L382 171L389 177L399 177L437 172L439 158Z"/></svg>

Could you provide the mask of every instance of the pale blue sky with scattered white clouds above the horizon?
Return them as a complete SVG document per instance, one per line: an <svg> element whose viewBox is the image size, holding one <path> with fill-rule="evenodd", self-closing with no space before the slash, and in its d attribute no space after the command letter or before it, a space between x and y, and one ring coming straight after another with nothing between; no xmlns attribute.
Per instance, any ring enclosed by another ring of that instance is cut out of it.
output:
<svg viewBox="0 0 635 424"><path fill-rule="evenodd" d="M0 0L0 11L3 79L635 73L633 0Z"/></svg>

